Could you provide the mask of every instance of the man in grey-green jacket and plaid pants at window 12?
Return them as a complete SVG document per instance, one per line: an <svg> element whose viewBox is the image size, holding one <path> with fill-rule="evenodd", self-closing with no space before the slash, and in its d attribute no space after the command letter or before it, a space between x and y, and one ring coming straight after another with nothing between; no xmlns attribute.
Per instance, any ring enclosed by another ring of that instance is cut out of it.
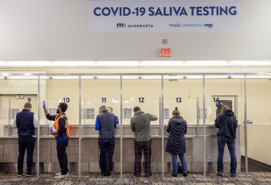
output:
<svg viewBox="0 0 271 185"><path fill-rule="evenodd" d="M145 159L145 177L152 175L151 171L151 121L158 119L157 116L144 113L139 107L134 108L135 115L131 118L131 130L135 132L135 172L134 175L139 177L141 174L141 157L142 149Z"/></svg>

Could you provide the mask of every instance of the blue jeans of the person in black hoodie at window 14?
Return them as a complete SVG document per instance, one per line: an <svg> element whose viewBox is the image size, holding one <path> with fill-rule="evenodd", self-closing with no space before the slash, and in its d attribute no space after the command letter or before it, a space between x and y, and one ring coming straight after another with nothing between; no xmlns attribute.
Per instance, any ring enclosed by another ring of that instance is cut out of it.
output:
<svg viewBox="0 0 271 185"><path fill-rule="evenodd" d="M217 147L218 147L217 171L223 171L223 155L225 144L227 144L231 156L230 172L231 174L236 174L237 161L235 156L235 139L223 136L217 136Z"/></svg>

